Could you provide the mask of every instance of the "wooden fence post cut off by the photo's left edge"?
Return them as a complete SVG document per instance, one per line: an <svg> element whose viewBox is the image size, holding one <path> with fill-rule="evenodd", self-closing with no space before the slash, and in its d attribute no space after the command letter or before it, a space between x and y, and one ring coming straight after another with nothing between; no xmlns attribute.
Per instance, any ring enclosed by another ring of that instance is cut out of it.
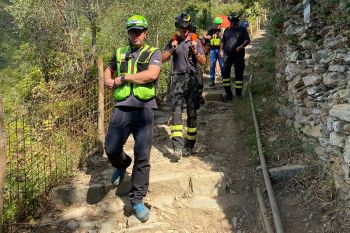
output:
<svg viewBox="0 0 350 233"><path fill-rule="evenodd" d="M4 186L6 169L6 134L4 126L4 110L0 98L0 232L3 232Z"/></svg>

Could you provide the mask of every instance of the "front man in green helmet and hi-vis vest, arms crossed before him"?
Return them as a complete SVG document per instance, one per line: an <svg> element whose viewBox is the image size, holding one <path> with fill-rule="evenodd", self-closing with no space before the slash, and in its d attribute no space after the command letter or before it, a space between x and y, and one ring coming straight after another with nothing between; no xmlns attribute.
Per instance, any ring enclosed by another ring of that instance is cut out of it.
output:
<svg viewBox="0 0 350 233"><path fill-rule="evenodd" d="M127 20L129 43L115 51L104 74L105 85L113 90L116 100L105 140L106 154L115 168L111 181L114 185L120 184L131 164L131 157L123 147L132 134L135 161L129 198L141 222L149 218L143 198L148 191L153 109L157 108L156 82L162 65L161 51L145 43L147 28L147 20L141 15Z"/></svg>

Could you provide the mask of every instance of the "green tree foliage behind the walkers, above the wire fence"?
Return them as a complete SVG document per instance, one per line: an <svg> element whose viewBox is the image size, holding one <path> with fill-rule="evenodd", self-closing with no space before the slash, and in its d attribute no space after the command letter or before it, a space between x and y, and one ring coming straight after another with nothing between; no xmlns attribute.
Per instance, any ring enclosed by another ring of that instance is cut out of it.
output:
<svg viewBox="0 0 350 233"><path fill-rule="evenodd" d="M4 1L0 19L6 20L0 30L5 33L0 33L0 51L5 53L0 55L0 74L5 78L0 83L6 88L1 88L0 93L8 98L5 109L30 100L28 93L18 89L25 87L24 80L34 77L33 70L40 70L45 81L41 88L47 86L51 93L95 78L96 57L103 57L107 64L113 51L127 43L125 21L132 14L148 19L147 42L163 48L175 32L175 16L182 11L192 16L200 30L206 31L216 15L232 11L259 14L263 1L269 0ZM163 68L162 79L166 78L166 71L167 67Z"/></svg>

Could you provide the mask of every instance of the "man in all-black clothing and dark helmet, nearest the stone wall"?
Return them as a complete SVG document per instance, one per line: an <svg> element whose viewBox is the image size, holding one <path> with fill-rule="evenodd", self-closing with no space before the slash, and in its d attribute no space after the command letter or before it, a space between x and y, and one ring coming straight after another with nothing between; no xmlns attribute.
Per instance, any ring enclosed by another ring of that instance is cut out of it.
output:
<svg viewBox="0 0 350 233"><path fill-rule="evenodd" d="M231 90L231 67L235 68L235 90L236 96L242 95L245 47L250 43L248 32L239 27L239 17L236 13L228 16L231 26L224 32L220 45L220 56L224 60L222 82L225 89L225 99L232 100Z"/></svg>

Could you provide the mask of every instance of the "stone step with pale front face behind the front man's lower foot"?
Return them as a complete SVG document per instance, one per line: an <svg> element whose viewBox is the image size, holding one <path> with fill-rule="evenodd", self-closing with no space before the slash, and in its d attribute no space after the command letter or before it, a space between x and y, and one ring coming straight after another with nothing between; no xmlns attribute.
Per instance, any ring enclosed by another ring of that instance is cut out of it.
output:
<svg viewBox="0 0 350 233"><path fill-rule="evenodd" d="M198 162L198 161L197 161ZM179 172L182 171L182 172ZM54 201L61 204L88 203L96 204L109 193L119 197L127 196L130 189L130 173L118 188L110 183L112 169L102 172L99 183L75 183L55 187L52 190ZM161 163L152 167L149 192L157 195L168 194L183 196L188 193L217 197L225 194L225 179L222 172L206 171L205 167L196 167L190 161L180 164Z"/></svg>

